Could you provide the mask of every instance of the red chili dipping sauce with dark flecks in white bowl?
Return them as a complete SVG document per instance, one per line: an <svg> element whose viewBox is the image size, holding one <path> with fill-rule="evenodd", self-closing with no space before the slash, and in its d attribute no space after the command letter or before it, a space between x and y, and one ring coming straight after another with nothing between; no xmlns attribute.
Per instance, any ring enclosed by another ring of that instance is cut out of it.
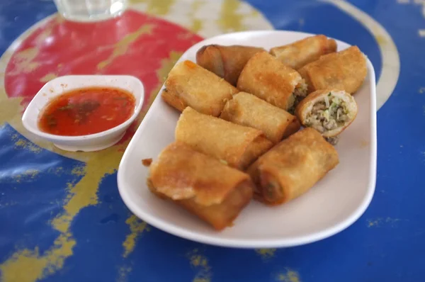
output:
<svg viewBox="0 0 425 282"><path fill-rule="evenodd" d="M135 104L135 97L123 89L76 89L52 99L42 110L38 127L62 136L94 134L124 123Z"/></svg>

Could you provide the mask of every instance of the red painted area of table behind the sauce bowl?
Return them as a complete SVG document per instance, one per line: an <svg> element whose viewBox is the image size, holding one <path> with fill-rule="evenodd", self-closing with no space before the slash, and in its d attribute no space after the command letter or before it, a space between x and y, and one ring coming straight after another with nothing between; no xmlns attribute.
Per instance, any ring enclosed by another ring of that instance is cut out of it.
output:
<svg viewBox="0 0 425 282"><path fill-rule="evenodd" d="M106 67L98 68L100 62L108 60L119 48L118 42L126 41L126 36L146 25L152 26L150 33L140 35L128 45L125 54L115 57ZM168 58L171 51L184 52L202 39L174 23L132 10L120 18L98 23L72 23L52 18L36 28L14 52L6 67L6 94L24 97L23 106L26 106L45 84L40 80L47 74L58 77L129 74L143 82L146 103L159 84L157 70L162 60ZM28 53L35 56L28 56ZM122 141L128 140L135 129L132 126Z"/></svg>

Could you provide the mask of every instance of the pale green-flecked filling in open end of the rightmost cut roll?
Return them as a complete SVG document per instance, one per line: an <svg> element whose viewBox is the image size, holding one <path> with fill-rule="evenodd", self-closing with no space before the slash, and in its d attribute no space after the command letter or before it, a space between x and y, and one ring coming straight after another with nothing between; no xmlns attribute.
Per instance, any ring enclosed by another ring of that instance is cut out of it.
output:
<svg viewBox="0 0 425 282"><path fill-rule="evenodd" d="M322 101L314 103L312 111L307 114L306 125L324 133L344 126L348 120L346 102L329 93Z"/></svg>

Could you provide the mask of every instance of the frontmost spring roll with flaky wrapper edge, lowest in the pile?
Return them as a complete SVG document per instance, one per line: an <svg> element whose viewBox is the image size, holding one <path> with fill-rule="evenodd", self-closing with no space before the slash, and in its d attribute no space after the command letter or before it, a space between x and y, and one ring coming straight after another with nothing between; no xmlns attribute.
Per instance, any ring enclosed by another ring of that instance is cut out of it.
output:
<svg viewBox="0 0 425 282"><path fill-rule="evenodd" d="M216 230L232 225L254 188L248 174L179 142L167 146L151 164L148 186Z"/></svg>

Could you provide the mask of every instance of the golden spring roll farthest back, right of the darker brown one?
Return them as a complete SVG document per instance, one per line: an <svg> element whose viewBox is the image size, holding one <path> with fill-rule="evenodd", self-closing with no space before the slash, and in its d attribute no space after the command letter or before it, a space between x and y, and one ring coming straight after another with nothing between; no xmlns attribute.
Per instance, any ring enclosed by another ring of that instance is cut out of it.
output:
<svg viewBox="0 0 425 282"><path fill-rule="evenodd" d="M319 59L320 56L336 52L336 41L324 35L315 35L294 43L273 47L270 54L293 69Z"/></svg>

